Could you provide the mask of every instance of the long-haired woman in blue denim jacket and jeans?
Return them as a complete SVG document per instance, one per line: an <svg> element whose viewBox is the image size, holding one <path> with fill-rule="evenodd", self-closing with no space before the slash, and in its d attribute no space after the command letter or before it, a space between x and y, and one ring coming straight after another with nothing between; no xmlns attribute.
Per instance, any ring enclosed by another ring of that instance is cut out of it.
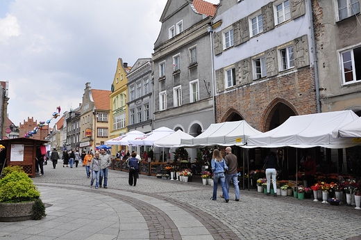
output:
<svg viewBox="0 0 361 240"><path fill-rule="evenodd" d="M221 152L219 150L215 149L213 150L213 157L211 161L212 166L212 173L213 173L213 196L210 198L210 200L217 200L217 188L218 188L218 182L221 183L221 188L223 192L223 196L226 202L229 202L229 196L228 191L226 189L226 185L224 184L226 182L226 177L224 175L224 171L228 170L228 166L226 165L226 161L224 161L223 157L221 156Z"/></svg>

